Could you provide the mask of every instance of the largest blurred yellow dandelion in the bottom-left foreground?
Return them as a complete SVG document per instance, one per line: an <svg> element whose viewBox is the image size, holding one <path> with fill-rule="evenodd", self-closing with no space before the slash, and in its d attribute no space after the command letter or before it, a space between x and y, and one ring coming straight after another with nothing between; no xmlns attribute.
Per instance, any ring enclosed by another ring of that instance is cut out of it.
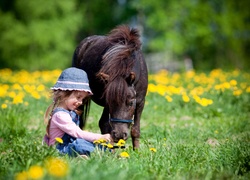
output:
<svg viewBox="0 0 250 180"><path fill-rule="evenodd" d="M54 177L65 177L69 171L69 165L60 158L50 158L46 161L45 167L48 174Z"/></svg>

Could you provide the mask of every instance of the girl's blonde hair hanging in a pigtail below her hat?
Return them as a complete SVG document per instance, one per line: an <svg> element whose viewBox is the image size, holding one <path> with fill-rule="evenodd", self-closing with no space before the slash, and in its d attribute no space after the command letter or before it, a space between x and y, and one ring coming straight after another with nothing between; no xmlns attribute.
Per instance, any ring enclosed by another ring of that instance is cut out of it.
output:
<svg viewBox="0 0 250 180"><path fill-rule="evenodd" d="M60 102L64 101L67 97L69 97L74 91L62 91L62 90L53 90L53 102L49 105L46 109L44 114L44 123L46 126L46 135L49 137L49 128L50 128L50 121L53 115L54 109L59 105Z"/></svg>

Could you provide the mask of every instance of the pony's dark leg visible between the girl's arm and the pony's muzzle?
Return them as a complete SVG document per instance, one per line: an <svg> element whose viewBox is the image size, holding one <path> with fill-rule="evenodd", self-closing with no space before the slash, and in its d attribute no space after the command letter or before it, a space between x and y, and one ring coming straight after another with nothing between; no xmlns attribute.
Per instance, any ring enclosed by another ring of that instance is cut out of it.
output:
<svg viewBox="0 0 250 180"><path fill-rule="evenodd" d="M102 134L111 133L111 126L109 124L109 110L108 108L104 108L102 112L102 116L99 120L99 128Z"/></svg>

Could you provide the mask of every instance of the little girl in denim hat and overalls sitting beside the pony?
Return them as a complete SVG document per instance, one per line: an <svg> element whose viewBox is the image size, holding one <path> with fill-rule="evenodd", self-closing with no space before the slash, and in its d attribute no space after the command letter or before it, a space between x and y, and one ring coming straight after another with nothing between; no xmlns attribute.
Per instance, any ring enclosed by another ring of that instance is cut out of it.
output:
<svg viewBox="0 0 250 180"><path fill-rule="evenodd" d="M85 71L73 67L65 69L51 89L54 101L45 113L48 123L44 141L48 146L55 144L55 138L61 138L63 143L56 145L60 153L89 156L95 148L94 140L112 140L110 134L91 133L79 127L77 108L92 95Z"/></svg>

